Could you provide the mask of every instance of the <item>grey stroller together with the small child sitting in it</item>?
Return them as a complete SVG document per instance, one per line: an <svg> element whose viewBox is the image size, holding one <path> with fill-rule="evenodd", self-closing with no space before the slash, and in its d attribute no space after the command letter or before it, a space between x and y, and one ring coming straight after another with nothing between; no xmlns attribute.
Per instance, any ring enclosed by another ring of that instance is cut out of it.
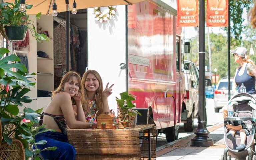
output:
<svg viewBox="0 0 256 160"><path fill-rule="evenodd" d="M231 157L239 160L256 160L254 151L256 100L248 93L239 93L233 96L229 103L233 106L234 117L224 119L226 147L221 160L230 160Z"/></svg>

